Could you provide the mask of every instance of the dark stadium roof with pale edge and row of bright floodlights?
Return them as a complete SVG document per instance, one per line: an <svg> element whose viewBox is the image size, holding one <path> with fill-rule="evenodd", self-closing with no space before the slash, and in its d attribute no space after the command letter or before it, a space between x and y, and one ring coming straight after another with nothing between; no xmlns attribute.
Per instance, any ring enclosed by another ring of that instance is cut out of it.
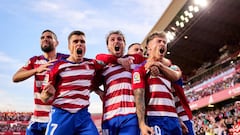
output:
<svg viewBox="0 0 240 135"><path fill-rule="evenodd" d="M193 0L173 0L149 32L168 32L172 40L166 57L188 77L203 65L206 69L215 65L226 52L240 50L240 1L205 2L204 7Z"/></svg>

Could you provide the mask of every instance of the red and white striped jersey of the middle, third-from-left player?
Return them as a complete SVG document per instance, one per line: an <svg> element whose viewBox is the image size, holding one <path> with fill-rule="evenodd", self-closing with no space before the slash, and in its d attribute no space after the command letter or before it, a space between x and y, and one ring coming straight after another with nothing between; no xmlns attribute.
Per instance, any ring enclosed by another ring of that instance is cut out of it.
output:
<svg viewBox="0 0 240 135"><path fill-rule="evenodd" d="M107 56L107 55L103 55ZM102 57L102 56L101 56ZM145 58L138 55L134 57L134 69ZM100 56L97 59L102 59ZM103 121L115 116L136 113L134 95L131 86L132 71L127 71L121 65L108 64L101 73L105 96L103 99Z"/></svg>

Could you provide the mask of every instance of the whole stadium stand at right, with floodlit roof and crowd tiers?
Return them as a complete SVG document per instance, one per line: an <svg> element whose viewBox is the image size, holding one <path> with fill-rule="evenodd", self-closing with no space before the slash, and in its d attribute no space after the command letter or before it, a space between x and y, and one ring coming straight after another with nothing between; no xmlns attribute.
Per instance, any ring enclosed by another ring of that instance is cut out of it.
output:
<svg viewBox="0 0 240 135"><path fill-rule="evenodd" d="M148 34L169 34L166 57L183 71L196 134L240 135L240 1L196 1L173 0Z"/></svg>

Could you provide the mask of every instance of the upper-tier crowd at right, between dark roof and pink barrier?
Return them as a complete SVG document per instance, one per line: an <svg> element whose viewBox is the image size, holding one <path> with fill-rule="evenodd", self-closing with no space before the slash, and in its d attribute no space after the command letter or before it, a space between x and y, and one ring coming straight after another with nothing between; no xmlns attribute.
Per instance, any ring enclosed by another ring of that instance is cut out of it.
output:
<svg viewBox="0 0 240 135"><path fill-rule="evenodd" d="M240 62L237 61L236 64L216 71L212 76L208 76L208 78L204 78L191 85L185 85L185 92L189 102L197 101L221 90L231 88L236 83L240 83L239 69Z"/></svg>

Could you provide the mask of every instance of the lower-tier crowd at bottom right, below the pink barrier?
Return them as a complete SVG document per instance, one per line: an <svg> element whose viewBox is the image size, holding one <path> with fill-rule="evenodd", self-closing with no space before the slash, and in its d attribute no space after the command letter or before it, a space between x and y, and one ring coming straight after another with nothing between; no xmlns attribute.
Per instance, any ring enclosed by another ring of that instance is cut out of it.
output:
<svg viewBox="0 0 240 135"><path fill-rule="evenodd" d="M239 135L240 134L240 101L227 104L193 116L197 135ZM236 129L238 128L238 129ZM233 132L238 132L233 134Z"/></svg>

